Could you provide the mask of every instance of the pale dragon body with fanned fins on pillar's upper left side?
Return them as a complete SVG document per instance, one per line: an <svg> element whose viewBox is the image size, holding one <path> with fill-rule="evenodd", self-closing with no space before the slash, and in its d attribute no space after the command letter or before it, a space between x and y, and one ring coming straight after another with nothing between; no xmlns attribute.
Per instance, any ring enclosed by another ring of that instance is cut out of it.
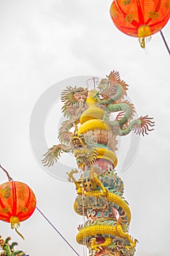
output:
<svg viewBox="0 0 170 256"><path fill-rule="evenodd" d="M74 145L76 142L76 138L72 138L72 132L70 129L72 127L77 126L80 121L80 116L87 108L85 100L88 97L88 89L83 89L82 87L74 87L72 86L67 87L66 90L63 91L61 94L61 101L64 102L62 112L63 116L67 117L66 121L63 121L61 128L59 130L58 138L61 141L61 144L57 146L53 146L49 148L47 153L45 154L45 159L42 160L44 165L50 166L53 165L55 161L57 161L58 157L61 156L62 152L74 152L74 149L80 148L79 146ZM85 143L85 138L78 138L80 140L78 144L85 147L85 151L87 152L86 148L87 145ZM88 152L88 157L92 157L91 152ZM80 154L75 153L77 156L80 157ZM93 153L92 153L93 155Z"/></svg>

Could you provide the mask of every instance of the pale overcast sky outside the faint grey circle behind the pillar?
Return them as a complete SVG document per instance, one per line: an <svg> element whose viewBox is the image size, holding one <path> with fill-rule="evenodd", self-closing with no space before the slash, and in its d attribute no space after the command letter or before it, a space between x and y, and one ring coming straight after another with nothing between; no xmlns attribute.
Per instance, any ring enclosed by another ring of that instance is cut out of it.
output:
<svg viewBox="0 0 170 256"><path fill-rule="evenodd" d="M119 172L132 211L130 233L139 240L136 255L167 256L170 253L169 54L160 33L152 36L144 51L136 38L118 31L109 16L111 3L109 0L0 1L0 164L12 178L34 190L37 206L82 256L82 246L75 241L77 225L82 219L73 210L74 185L53 178L36 162L29 141L29 123L36 101L55 83L74 76L105 77L113 69L119 71L129 85L128 95L139 116L149 114L156 123L155 131L142 138L131 167ZM170 44L169 29L167 24L163 34ZM61 113L56 106L52 111L57 122ZM50 140L55 143L57 137L55 118L53 134L47 143ZM0 178L1 183L7 181L2 172ZM13 241L18 241L18 249L30 256L75 255L38 211L21 223L25 241L7 223L0 224L1 236L12 236Z"/></svg>

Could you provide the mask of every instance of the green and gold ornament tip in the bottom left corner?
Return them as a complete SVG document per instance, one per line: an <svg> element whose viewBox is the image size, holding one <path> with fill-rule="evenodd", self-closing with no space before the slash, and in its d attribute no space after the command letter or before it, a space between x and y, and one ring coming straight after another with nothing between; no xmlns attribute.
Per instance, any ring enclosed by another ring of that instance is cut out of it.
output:
<svg viewBox="0 0 170 256"><path fill-rule="evenodd" d="M13 242L12 244L9 244L10 240L11 238L9 236L6 239L1 238L0 236L1 256L29 256L21 250L15 251L14 246L18 245L18 243Z"/></svg>

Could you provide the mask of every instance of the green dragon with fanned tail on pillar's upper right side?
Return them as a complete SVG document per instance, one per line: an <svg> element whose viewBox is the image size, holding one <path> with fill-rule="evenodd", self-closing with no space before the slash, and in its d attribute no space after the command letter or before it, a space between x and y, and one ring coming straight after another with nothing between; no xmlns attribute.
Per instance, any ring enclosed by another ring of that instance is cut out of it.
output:
<svg viewBox="0 0 170 256"><path fill-rule="evenodd" d="M98 106L106 111L103 121L111 125L115 135L128 135L131 130L136 134L144 135L152 131L150 127L155 125L152 118L148 116L141 116L134 121L134 105L123 98L127 94L128 85L120 80L118 72L110 72L106 79L102 79L98 85L99 91L93 96L97 99ZM110 121L111 113L119 112L115 121Z"/></svg>

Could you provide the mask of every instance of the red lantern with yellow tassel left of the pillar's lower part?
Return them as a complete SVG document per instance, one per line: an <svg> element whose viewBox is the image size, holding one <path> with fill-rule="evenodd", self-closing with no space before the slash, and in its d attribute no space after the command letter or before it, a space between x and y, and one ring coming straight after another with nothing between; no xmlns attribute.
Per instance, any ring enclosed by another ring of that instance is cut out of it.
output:
<svg viewBox="0 0 170 256"><path fill-rule="evenodd" d="M20 222L31 217L35 208L34 192L23 182L8 181L0 185L0 219L10 222L17 233Z"/></svg>

